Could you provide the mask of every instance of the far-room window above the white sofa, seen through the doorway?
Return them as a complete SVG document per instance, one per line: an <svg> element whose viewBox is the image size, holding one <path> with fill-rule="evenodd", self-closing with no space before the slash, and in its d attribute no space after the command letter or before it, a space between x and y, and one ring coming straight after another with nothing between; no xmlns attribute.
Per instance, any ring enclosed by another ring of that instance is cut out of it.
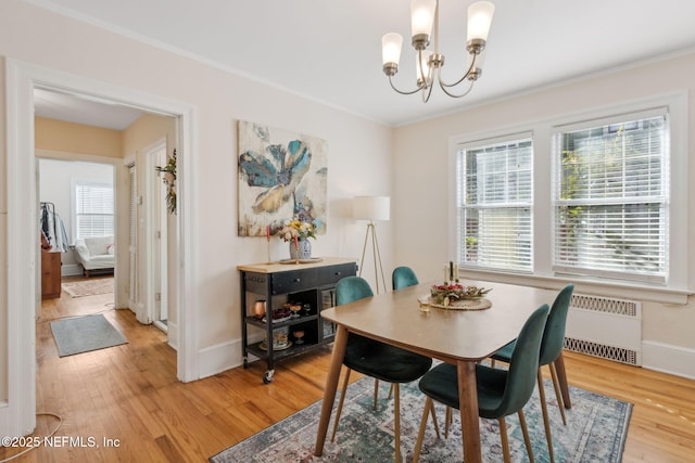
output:
<svg viewBox="0 0 695 463"><path fill-rule="evenodd" d="M75 184L75 237L113 235L113 187Z"/></svg>

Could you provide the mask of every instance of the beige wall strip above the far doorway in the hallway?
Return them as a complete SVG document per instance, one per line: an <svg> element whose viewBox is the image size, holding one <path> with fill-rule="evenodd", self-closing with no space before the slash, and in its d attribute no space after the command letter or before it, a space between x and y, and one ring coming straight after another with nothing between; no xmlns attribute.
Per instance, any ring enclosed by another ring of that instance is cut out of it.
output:
<svg viewBox="0 0 695 463"><path fill-rule="evenodd" d="M64 153L123 157L123 132L36 117L35 147Z"/></svg>

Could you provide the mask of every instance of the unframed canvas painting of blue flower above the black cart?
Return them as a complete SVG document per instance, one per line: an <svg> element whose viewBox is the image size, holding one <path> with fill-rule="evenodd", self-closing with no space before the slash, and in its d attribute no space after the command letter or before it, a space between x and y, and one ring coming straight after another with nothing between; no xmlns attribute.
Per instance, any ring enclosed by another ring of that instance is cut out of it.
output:
<svg viewBox="0 0 695 463"><path fill-rule="evenodd" d="M292 218L326 233L328 143L239 121L239 236L275 233Z"/></svg>

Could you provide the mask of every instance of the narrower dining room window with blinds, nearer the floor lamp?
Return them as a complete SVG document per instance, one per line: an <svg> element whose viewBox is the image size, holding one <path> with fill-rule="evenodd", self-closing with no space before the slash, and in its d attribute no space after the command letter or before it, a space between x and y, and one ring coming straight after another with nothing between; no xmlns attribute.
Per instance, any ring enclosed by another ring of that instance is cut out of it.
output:
<svg viewBox="0 0 695 463"><path fill-rule="evenodd" d="M459 263L492 270L533 269L532 157L530 134L459 146Z"/></svg>

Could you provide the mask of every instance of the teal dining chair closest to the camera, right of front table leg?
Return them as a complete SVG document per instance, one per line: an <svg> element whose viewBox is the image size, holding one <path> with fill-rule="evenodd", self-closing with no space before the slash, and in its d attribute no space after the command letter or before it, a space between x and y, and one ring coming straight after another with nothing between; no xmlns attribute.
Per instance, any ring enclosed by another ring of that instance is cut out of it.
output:
<svg viewBox="0 0 695 463"><path fill-rule="evenodd" d="M478 415L480 417L497 420L500 437L505 463L510 462L509 441L505 416L513 413L519 415L519 424L523 433L529 460L533 462L531 439L523 416L523 406L531 398L535 386L535 372L539 369L539 352L543 329L548 313L547 304L542 305L531 313L521 327L517 337L516 348L509 359L509 369L494 369L483 364L476 364L476 382L478 390ZM427 396L420 429L415 445L413 463L420 456L425 428L433 401L458 409L458 380L456 366L441 363L427 372L419 382L420 390ZM463 429L465 433L466 429Z"/></svg>

